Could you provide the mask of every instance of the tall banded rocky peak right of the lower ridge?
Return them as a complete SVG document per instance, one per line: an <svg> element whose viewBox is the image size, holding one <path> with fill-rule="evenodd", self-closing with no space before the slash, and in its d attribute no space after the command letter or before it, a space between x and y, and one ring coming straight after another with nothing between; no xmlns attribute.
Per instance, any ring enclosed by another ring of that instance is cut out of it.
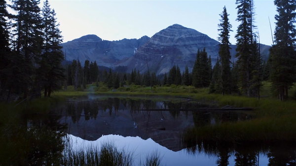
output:
<svg viewBox="0 0 296 166"><path fill-rule="evenodd" d="M174 24L154 34L134 56L121 65L128 66L129 70L136 68L143 73L147 71L148 62L149 70L157 74L168 72L174 64L178 64L182 70L186 65L190 69L193 67L197 50L203 48L206 48L208 55L211 55L215 62L218 41L194 29Z"/></svg>

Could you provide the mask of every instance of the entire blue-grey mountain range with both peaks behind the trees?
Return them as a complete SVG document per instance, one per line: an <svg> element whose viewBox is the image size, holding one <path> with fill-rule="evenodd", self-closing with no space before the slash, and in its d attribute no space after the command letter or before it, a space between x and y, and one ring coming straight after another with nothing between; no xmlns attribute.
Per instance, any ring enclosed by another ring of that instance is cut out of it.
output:
<svg viewBox="0 0 296 166"><path fill-rule="evenodd" d="M63 43L67 60L79 58L96 60L101 66L118 68L131 72L134 68L144 73L148 70L164 74L178 65L181 71L188 65L192 70L198 49L206 49L211 55L212 66L217 61L220 42L192 28L174 24L155 33L151 38L102 40L96 35L86 35ZM263 59L267 59L270 46L260 44ZM231 61L235 61L236 46L231 45Z"/></svg>

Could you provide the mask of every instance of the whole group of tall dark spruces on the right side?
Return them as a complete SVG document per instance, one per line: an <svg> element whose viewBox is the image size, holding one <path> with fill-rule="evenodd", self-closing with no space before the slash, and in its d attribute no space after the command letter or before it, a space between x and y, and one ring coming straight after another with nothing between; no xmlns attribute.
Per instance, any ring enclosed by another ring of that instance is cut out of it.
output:
<svg viewBox="0 0 296 166"><path fill-rule="evenodd" d="M296 1L274 0L278 14L274 43L269 59L260 55L259 32L256 32L254 0L236 0L237 21L240 25L235 35L237 61L230 62L229 23L226 7L223 8L219 26L221 42L219 57L213 68L210 92L260 97L261 82L269 80L274 94L280 100L288 98L288 89L296 82Z"/></svg>

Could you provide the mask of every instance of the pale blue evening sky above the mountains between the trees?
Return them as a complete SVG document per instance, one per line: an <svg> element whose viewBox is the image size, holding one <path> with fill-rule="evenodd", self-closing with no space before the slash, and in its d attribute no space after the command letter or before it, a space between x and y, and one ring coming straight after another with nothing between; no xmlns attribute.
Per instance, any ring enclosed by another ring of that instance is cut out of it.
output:
<svg viewBox="0 0 296 166"><path fill-rule="evenodd" d="M225 5L232 24L230 41L239 25L235 0L49 0L57 13L64 42L86 34L96 34L104 40L151 37L173 24L196 29L217 40L218 24ZM256 25L260 43L271 45L275 27L276 7L273 0L255 0Z"/></svg>

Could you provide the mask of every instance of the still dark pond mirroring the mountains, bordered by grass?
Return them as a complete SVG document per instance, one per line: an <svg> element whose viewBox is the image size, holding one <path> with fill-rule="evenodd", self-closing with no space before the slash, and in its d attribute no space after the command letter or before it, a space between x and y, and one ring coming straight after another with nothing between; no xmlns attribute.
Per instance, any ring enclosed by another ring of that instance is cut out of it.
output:
<svg viewBox="0 0 296 166"><path fill-rule="evenodd" d="M212 110L209 111L209 108ZM219 110L214 102L176 97L93 95L70 99L48 114L22 118L25 129L17 128L21 130L17 132L30 133L25 142L29 141L36 147L20 147L29 152L19 152L19 155L25 156L18 165L22 162L57 164L61 162L59 158L65 154L65 149L100 149L107 142L131 152L135 166L154 152L160 156L163 166L273 166L296 163L296 146L293 143L229 144L185 139L184 134L190 128L253 118L250 111ZM24 143L19 144L22 146ZM9 149L10 145L3 145ZM15 143L13 146L16 146Z"/></svg>

